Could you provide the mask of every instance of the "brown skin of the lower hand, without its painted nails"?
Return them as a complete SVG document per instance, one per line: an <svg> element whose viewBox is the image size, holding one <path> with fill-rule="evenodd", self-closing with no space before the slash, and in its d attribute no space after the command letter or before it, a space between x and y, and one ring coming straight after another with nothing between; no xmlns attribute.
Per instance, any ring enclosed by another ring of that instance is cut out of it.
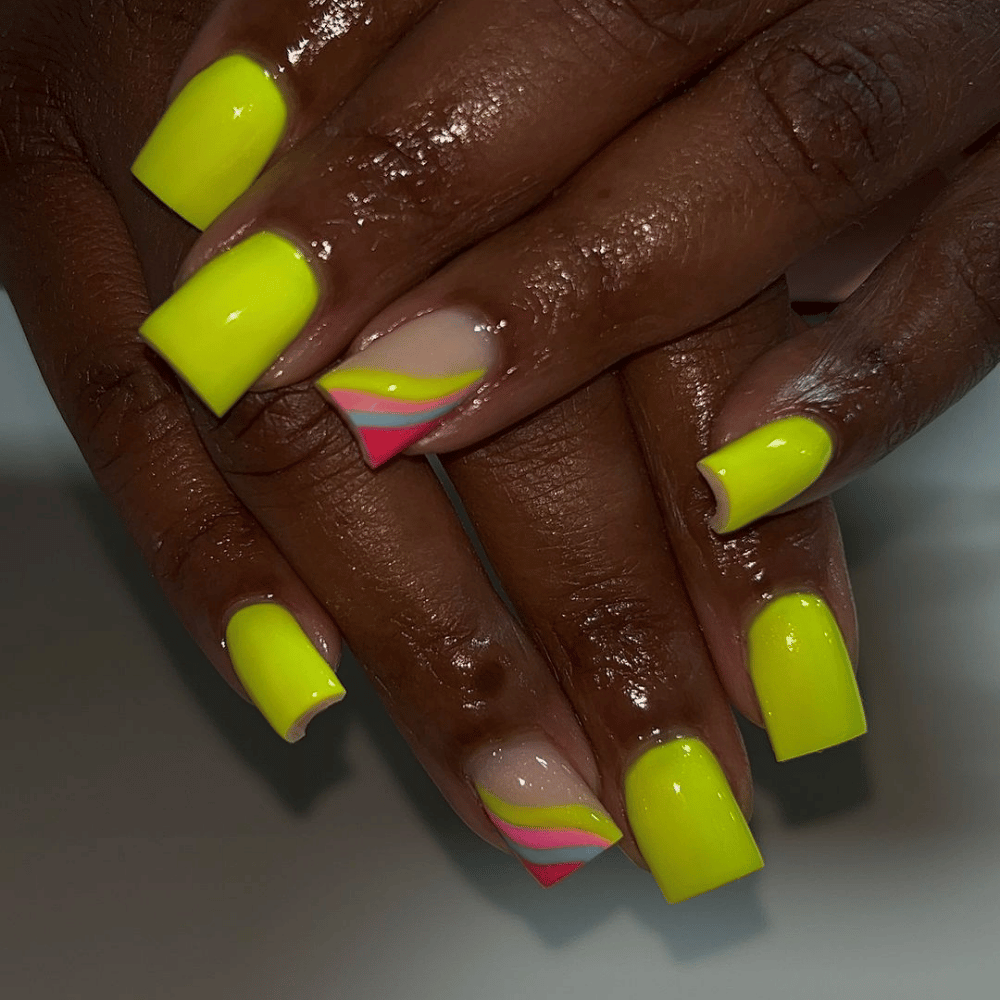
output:
<svg viewBox="0 0 1000 1000"><path fill-rule="evenodd" d="M697 377L687 364L671 374L662 355L655 377L676 384L662 427L634 424L632 376L628 400L608 376L449 461L525 631L422 459L371 472L308 387L251 394L216 421L143 347L138 325L193 238L127 169L155 117L148 95L166 91L206 13L163 6L95 4L82 21L76 0L17 8L0 51L0 264L61 412L202 648L236 686L226 618L265 597L331 659L342 632L442 792L493 843L463 763L529 729L564 749L625 829L623 770L672 733L703 736L749 809L726 692L759 710L738 637L767 593L793 586L827 594L853 634L836 525L825 509L800 512L784 522L787 548L774 519L713 550L707 490L647 466L636 428L661 452L695 454L722 387L787 336L782 289L698 335ZM736 342L752 346L729 351ZM762 589L751 570L765 556Z"/></svg>

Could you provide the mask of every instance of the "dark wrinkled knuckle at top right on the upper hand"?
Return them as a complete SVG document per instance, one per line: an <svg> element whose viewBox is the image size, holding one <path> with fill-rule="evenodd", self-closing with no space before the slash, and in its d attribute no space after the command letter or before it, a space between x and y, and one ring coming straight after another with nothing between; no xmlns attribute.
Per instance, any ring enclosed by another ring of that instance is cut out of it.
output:
<svg viewBox="0 0 1000 1000"><path fill-rule="evenodd" d="M893 29L874 19L857 37L828 25L797 25L751 48L764 113L754 142L825 215L866 188L907 138L912 97Z"/></svg>

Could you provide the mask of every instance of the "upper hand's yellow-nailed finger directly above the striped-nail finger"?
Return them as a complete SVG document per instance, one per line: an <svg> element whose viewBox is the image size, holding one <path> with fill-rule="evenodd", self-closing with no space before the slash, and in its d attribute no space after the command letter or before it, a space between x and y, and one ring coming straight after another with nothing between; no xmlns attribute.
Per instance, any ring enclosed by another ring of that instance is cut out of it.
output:
<svg viewBox="0 0 1000 1000"><path fill-rule="evenodd" d="M279 355L272 385L315 374L378 309L793 5L702 20L648 2L438 6L212 227L144 335L216 413ZM262 315L275 285L289 294ZM486 345L461 339L482 360Z"/></svg>

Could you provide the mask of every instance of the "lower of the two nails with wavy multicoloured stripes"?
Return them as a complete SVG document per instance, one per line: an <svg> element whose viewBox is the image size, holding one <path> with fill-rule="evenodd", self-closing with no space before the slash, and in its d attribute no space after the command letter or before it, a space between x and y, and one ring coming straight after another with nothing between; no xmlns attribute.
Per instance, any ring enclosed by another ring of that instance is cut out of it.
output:
<svg viewBox="0 0 1000 1000"><path fill-rule="evenodd" d="M500 835L546 888L622 838L586 782L542 737L484 751L467 773Z"/></svg>

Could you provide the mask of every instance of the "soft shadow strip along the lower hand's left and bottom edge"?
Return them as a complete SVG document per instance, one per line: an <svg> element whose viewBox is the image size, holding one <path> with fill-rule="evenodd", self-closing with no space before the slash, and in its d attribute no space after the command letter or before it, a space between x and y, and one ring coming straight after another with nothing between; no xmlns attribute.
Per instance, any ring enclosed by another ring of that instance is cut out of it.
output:
<svg viewBox="0 0 1000 1000"><path fill-rule="evenodd" d="M62 500L58 499L60 491ZM211 669L97 487L75 480L64 487L46 487L45 492L50 497L55 494L57 504L75 503L83 512L93 538L127 585L138 612L161 642L192 699L290 812L308 813L320 795L346 777L345 734L349 726L360 725L465 880L485 901L499 904L530 926L549 947L558 949L591 933L623 907L648 926L662 940L665 952L679 962L696 962L765 931L766 920L752 876L672 907L648 873L636 868L621 852L608 851L573 878L550 890L539 888L516 860L479 840L454 814L349 651L345 651L339 673L351 697L337 712L319 716L307 738L295 746L276 739L261 726L256 710ZM13 501L9 495L5 497L8 506L12 503L15 508L5 510L12 516L37 518L44 509L37 496L30 495L30 489L19 486L14 495L17 499ZM53 516L58 518L58 511ZM37 530L42 529L39 526ZM37 530L26 527L31 537L39 537ZM46 546L49 558L58 558L60 549L57 539ZM60 563L48 571L66 574L71 569ZM79 585L84 586L85 581Z"/></svg>

